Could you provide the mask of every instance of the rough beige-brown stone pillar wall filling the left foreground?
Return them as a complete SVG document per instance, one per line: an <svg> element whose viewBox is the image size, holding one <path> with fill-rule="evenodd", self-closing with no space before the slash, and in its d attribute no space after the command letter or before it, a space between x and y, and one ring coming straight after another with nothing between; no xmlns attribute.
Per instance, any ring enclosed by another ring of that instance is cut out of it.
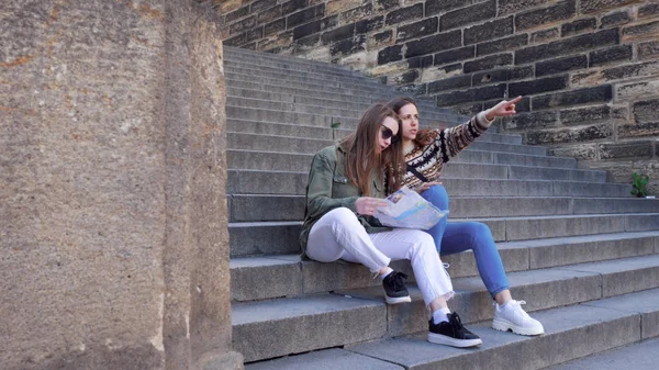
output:
<svg viewBox="0 0 659 370"><path fill-rule="evenodd" d="M0 4L2 369L238 369L200 1Z"/></svg>

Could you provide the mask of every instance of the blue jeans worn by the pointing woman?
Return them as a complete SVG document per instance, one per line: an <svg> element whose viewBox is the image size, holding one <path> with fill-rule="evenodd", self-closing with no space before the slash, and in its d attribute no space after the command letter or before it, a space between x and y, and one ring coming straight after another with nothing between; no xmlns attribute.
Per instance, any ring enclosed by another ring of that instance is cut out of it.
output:
<svg viewBox="0 0 659 370"><path fill-rule="evenodd" d="M448 210L448 193L443 186L434 186L421 197L439 210ZM442 255L473 250L478 272L492 298L510 288L501 256L488 225L480 222L448 223L444 217L427 233L435 239L435 247Z"/></svg>

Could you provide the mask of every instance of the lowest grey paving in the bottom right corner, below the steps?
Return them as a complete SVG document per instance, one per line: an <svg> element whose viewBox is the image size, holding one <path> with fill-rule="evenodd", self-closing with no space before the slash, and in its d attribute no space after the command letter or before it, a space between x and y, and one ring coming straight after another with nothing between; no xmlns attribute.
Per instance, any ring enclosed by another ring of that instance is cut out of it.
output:
<svg viewBox="0 0 659 370"><path fill-rule="evenodd" d="M647 339L640 343L633 343L625 347L610 349L607 351L583 357L581 359L573 360L570 362L545 368L544 370L657 370L657 354L659 354L659 339ZM367 358L369 361L371 361L370 363L373 367L379 365L376 362L377 360L373 360L366 356L361 357ZM351 360L345 362L345 365L348 366L350 365L349 362L351 362ZM392 369L394 369L394 365L392 363L381 363L384 365L386 368L392 367Z"/></svg>

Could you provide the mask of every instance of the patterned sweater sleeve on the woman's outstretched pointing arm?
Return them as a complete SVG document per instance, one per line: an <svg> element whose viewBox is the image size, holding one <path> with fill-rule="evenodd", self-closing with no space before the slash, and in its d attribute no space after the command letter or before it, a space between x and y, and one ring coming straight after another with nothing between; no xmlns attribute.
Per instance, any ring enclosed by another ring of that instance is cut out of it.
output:
<svg viewBox="0 0 659 370"><path fill-rule="evenodd" d="M437 160L447 162L450 158L457 156L469 144L480 137L492 125L492 122L494 120L488 121L483 111L472 116L467 123L443 130L434 143L438 147Z"/></svg>

